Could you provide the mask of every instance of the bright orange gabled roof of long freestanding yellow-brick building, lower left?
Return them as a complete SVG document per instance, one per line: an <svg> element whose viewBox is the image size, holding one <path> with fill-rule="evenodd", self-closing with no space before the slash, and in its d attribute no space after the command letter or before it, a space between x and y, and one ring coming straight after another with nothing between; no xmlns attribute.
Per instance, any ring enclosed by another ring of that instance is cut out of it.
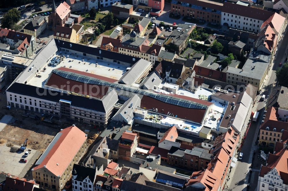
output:
<svg viewBox="0 0 288 191"><path fill-rule="evenodd" d="M65 128L58 134L60 133L61 135L57 142L51 148L41 164L33 168L34 171L43 168L45 165L46 169L51 173L56 176L61 176L74 156L78 153L83 143L87 140L86 134L76 126Z"/></svg>

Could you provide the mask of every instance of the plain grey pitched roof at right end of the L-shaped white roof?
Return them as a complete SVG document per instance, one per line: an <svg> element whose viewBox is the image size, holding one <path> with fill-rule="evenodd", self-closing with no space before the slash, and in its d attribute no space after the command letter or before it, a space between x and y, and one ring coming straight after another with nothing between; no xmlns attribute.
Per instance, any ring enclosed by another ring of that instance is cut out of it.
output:
<svg viewBox="0 0 288 191"><path fill-rule="evenodd" d="M128 85L133 85L139 78L139 76L142 76L143 72L149 66L151 66L151 62L144 59L140 59L130 68L130 70L125 72L125 74L119 79L119 82Z"/></svg>

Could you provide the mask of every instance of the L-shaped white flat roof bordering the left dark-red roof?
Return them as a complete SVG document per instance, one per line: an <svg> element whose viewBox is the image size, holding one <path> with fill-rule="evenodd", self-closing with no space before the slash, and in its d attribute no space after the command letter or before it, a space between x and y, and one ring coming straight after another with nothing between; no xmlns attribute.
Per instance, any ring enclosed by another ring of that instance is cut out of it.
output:
<svg viewBox="0 0 288 191"><path fill-rule="evenodd" d="M52 72L52 70L55 70L59 67L67 67L73 70L87 72L90 74L96 74L99 76L104 76L115 80L119 80L122 77L122 75L126 72L127 68L127 66L124 65L111 63L103 60L91 59L85 56L76 57L77 55L70 55L70 54L63 54L63 55L65 55L65 58L60 64L58 64L57 66L48 66L47 63L46 70L45 71L41 70L37 73L37 75L40 75L41 77L38 78L35 76L28 82L28 84L37 87L44 87L44 84L47 78L49 77L50 73ZM58 54L58 52L56 56L61 57L61 55ZM97 66L96 62L98 63Z"/></svg>

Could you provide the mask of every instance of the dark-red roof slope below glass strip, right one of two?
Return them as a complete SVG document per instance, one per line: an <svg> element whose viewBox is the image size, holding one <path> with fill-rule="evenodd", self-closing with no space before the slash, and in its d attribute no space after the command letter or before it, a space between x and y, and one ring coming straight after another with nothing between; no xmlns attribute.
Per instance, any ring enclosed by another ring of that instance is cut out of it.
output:
<svg viewBox="0 0 288 191"><path fill-rule="evenodd" d="M175 96L178 97L178 96ZM199 100L199 99L197 99ZM202 100L199 100L202 102ZM168 112L177 115L178 118L187 119L196 123L201 123L206 113L206 109L194 109L173 105L170 103L162 102L158 99L149 96L143 96L141 99L141 108L152 109L157 107L158 113L167 114Z"/></svg>

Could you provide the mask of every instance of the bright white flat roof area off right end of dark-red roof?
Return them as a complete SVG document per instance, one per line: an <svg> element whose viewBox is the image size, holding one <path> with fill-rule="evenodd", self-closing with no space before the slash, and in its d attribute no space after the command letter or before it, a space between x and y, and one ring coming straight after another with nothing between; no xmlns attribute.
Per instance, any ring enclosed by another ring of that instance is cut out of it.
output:
<svg viewBox="0 0 288 191"><path fill-rule="evenodd" d="M219 130L219 126L221 124L221 117L224 116L227 105L223 106L222 103L219 103L215 100L212 100L211 102L214 103L213 112L207 115L206 119L204 119L203 125L206 127L210 127L211 129Z"/></svg>

